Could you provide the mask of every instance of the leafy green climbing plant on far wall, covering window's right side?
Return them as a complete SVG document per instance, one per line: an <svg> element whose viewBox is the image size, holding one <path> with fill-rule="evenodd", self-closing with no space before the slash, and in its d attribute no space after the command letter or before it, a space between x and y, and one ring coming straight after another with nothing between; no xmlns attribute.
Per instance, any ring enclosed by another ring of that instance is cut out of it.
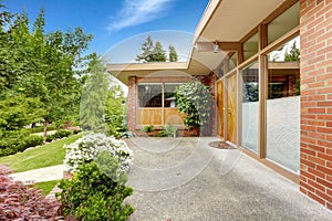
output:
<svg viewBox="0 0 332 221"><path fill-rule="evenodd" d="M205 130L212 109L209 87L200 82L189 82L178 86L175 96L178 110L187 114L185 125L188 130L196 127Z"/></svg>

